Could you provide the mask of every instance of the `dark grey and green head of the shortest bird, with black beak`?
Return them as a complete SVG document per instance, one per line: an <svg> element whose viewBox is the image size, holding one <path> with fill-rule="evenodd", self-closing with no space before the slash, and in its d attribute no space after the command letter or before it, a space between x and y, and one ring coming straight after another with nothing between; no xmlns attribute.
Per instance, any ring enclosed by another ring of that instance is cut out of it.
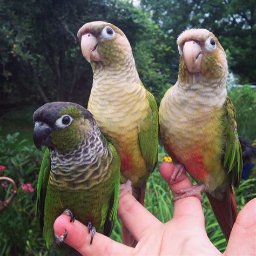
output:
<svg viewBox="0 0 256 256"><path fill-rule="evenodd" d="M60 152L72 151L93 131L95 120L84 107L70 102L47 103L33 113L33 141Z"/></svg>

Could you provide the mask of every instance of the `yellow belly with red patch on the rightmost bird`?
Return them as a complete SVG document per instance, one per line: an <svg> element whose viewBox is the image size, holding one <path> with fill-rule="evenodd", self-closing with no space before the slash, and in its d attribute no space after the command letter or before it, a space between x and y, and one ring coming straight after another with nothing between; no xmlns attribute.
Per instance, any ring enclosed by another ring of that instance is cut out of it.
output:
<svg viewBox="0 0 256 256"><path fill-rule="evenodd" d="M221 162L223 137L222 110L204 115L189 106L170 100L167 92L159 109L160 134L170 156L184 164L191 176L206 185L207 191L223 183ZM201 117L200 117L201 115Z"/></svg>

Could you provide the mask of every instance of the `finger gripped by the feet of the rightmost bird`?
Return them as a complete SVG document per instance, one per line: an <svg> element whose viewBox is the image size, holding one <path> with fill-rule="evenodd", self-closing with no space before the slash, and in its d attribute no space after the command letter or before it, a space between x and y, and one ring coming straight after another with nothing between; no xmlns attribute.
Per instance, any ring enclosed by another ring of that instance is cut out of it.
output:
<svg viewBox="0 0 256 256"><path fill-rule="evenodd" d="M168 184L173 170L173 164L164 162L159 165L159 172ZM183 188L188 188L191 186L193 186L193 184L191 183L190 179L188 179L185 173L181 174L181 176L177 180L169 184L172 193L176 193ZM174 202L173 217L179 217L184 215L196 215L200 219L203 218L204 221L204 213L201 202L197 197L186 197ZM204 225L202 221L200 221L200 224Z"/></svg>

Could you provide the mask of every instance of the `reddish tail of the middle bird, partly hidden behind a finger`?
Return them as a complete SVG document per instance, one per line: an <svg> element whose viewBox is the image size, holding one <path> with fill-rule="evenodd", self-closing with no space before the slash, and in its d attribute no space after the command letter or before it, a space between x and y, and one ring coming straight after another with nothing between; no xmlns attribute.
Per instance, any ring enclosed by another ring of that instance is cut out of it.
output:
<svg viewBox="0 0 256 256"><path fill-rule="evenodd" d="M144 205L144 199L145 199L145 188L139 187L139 188L132 188L133 196L139 201L140 204ZM122 241L123 244L135 247L137 245L137 241L132 236L129 230L127 230L124 223L121 221L121 228L122 228Z"/></svg>

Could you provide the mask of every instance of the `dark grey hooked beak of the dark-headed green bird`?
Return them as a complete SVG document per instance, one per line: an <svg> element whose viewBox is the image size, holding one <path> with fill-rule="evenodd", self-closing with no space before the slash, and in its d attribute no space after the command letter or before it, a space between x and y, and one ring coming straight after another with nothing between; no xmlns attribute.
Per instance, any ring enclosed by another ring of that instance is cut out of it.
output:
<svg viewBox="0 0 256 256"><path fill-rule="evenodd" d="M41 150L43 146L52 146L50 134L52 129L44 122L36 122L33 130L33 141L37 149Z"/></svg>

